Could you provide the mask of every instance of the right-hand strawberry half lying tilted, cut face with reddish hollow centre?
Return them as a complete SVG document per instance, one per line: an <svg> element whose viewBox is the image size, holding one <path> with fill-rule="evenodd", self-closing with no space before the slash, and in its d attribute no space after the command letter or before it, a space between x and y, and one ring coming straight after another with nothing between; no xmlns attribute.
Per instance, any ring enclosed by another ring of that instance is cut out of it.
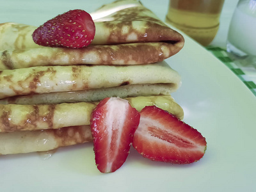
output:
<svg viewBox="0 0 256 192"><path fill-rule="evenodd" d="M132 145L143 157L186 164L204 156L205 138L193 127L156 106L147 106L140 114Z"/></svg>

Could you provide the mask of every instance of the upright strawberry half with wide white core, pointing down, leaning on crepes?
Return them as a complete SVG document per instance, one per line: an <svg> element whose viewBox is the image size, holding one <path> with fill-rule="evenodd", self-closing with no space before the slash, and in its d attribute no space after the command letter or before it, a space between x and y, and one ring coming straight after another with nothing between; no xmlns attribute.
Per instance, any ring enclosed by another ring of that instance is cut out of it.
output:
<svg viewBox="0 0 256 192"><path fill-rule="evenodd" d="M124 164L139 123L140 113L127 100L111 97L100 101L91 118L93 150L100 172L115 172Z"/></svg>

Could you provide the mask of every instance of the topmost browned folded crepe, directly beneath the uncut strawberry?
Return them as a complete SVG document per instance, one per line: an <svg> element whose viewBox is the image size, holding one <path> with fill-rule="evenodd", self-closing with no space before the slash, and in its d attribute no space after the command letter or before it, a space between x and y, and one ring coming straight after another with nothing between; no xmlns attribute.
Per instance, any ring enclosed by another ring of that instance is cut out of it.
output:
<svg viewBox="0 0 256 192"><path fill-rule="evenodd" d="M118 4L122 9L112 13ZM182 35L166 26L141 3L129 0L118 4L102 6L92 13L95 38L83 49L42 47L33 42L35 26L14 22L0 24L0 69L48 65L139 65L163 61L182 49Z"/></svg>

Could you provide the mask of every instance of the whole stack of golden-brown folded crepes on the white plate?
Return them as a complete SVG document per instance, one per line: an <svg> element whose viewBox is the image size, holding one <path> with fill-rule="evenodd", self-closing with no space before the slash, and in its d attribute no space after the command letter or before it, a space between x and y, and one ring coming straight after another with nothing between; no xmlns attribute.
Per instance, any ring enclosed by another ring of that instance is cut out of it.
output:
<svg viewBox="0 0 256 192"><path fill-rule="evenodd" d="M180 76L163 61L182 49L182 35L138 1L106 4L92 17L95 38L82 49L42 47L35 26L0 24L0 154L92 141L90 115L105 97L183 118L170 95Z"/></svg>

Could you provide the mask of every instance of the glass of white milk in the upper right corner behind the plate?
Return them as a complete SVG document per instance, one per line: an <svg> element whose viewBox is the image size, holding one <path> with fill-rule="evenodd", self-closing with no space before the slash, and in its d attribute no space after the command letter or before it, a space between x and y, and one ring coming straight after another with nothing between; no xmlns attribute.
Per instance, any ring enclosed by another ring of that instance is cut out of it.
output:
<svg viewBox="0 0 256 192"><path fill-rule="evenodd" d="M256 0L237 5L228 31L228 52L256 56Z"/></svg>

